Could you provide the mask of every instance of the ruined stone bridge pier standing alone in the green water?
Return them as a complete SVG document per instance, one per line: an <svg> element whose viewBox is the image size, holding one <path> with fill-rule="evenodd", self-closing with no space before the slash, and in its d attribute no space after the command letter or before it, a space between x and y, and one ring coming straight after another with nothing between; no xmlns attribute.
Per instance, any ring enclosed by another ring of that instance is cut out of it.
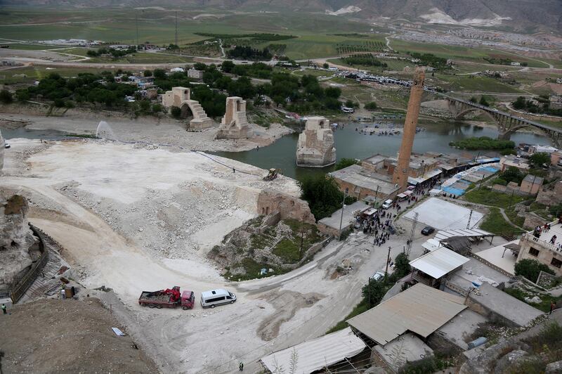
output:
<svg viewBox="0 0 562 374"><path fill-rule="evenodd" d="M336 162L334 133L325 117L308 117L296 145L296 165L325 167Z"/></svg>

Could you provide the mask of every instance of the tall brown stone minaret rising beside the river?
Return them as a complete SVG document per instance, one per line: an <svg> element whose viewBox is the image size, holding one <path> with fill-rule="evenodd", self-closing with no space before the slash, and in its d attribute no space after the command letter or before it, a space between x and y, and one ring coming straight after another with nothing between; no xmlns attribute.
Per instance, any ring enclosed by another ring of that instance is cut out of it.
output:
<svg viewBox="0 0 562 374"><path fill-rule="evenodd" d="M421 95L424 93L424 80L426 73L423 68L417 67L414 72L414 83L410 89L410 101L408 101L408 111L404 122L404 132L400 153L398 154L398 165L394 169L392 180L400 186L400 191L404 191L408 185L408 172L410 169L410 156L416 135L417 119L419 117L419 104Z"/></svg>

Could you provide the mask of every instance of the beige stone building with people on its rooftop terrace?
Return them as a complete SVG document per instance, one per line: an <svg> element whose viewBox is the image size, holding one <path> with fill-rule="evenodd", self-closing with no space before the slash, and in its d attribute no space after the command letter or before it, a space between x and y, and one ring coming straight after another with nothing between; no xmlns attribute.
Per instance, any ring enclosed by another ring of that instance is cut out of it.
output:
<svg viewBox="0 0 562 374"><path fill-rule="evenodd" d="M554 244L551 243L553 236L556 236ZM536 259L554 270L556 276L562 276L562 225L553 222L550 230L540 235L534 231L524 233L519 240L517 261L522 259Z"/></svg>

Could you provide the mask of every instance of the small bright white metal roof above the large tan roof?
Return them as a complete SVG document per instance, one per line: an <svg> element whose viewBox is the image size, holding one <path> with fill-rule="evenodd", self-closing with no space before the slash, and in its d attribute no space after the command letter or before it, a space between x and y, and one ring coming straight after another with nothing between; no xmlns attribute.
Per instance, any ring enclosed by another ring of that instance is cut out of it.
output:
<svg viewBox="0 0 562 374"><path fill-rule="evenodd" d="M423 271L428 276L439 279L466 262L469 262L466 257L453 252L449 248L440 247L410 261L410 266Z"/></svg>

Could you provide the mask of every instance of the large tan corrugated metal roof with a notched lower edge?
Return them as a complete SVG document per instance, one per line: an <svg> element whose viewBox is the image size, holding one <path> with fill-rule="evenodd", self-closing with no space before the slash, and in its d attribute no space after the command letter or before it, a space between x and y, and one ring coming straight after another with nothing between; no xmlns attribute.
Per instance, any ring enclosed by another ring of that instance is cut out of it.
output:
<svg viewBox="0 0 562 374"><path fill-rule="evenodd" d="M463 302L462 297L417 283L347 322L379 344L406 331L428 337L466 309Z"/></svg>

